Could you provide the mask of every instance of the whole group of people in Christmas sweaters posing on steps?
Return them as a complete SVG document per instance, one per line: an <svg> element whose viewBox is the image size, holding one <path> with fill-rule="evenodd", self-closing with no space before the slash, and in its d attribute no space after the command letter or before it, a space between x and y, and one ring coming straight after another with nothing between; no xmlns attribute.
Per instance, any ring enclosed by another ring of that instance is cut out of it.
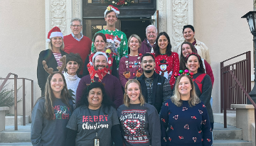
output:
<svg viewBox="0 0 256 146"><path fill-rule="evenodd" d="M104 14L107 27L92 41L79 18L70 35L49 31L38 58L42 96L32 111L32 144L212 145L214 77L193 26L172 48L152 25L144 41L127 40L115 28L119 9L110 5Z"/></svg>

